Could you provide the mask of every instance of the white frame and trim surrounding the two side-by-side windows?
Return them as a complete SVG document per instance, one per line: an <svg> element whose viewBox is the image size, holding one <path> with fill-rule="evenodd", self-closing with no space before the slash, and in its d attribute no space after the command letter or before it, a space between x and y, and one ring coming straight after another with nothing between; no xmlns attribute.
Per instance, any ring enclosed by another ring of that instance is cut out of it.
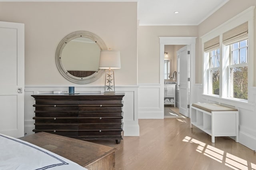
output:
<svg viewBox="0 0 256 170"><path fill-rule="evenodd" d="M214 30L208 32L204 36L200 37L202 39L202 56L203 56L203 75L202 75L202 82L204 88L204 95L209 94L209 54L204 52L204 43L215 38L216 36L220 36L220 98L236 100L236 101L243 101L242 99L236 99L228 97L229 94L229 84L228 84L228 77L229 77L229 45L222 44L222 34L239 26L245 22L248 22L248 101L250 102L253 100L253 96L250 94L249 90L250 87L254 85L254 6L244 10L234 18L228 20L224 24L218 26ZM215 95L216 96L216 95Z"/></svg>

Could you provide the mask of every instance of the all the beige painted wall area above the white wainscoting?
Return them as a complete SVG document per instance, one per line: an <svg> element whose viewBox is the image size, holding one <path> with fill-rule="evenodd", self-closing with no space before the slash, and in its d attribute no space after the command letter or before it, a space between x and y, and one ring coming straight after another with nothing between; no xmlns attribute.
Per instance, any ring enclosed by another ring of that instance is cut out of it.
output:
<svg viewBox="0 0 256 170"><path fill-rule="evenodd" d="M203 36L253 5L255 0L230 0L199 26L138 26L138 83L160 83L159 37ZM136 2L0 2L0 20L25 24L26 86L73 84L58 72L55 51L64 36L78 30L93 32L107 47L120 50L122 68L115 71L116 85L137 84ZM200 38L196 47L196 83L202 83ZM91 84L104 84L104 76Z"/></svg>

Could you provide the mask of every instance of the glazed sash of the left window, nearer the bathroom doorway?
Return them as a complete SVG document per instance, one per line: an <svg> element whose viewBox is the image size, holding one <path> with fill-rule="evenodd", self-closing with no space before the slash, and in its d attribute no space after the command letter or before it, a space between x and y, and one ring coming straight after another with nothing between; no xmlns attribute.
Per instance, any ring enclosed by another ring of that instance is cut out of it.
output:
<svg viewBox="0 0 256 170"><path fill-rule="evenodd" d="M209 92L213 95L220 94L220 49L214 49L209 52L210 68L209 68Z"/></svg>

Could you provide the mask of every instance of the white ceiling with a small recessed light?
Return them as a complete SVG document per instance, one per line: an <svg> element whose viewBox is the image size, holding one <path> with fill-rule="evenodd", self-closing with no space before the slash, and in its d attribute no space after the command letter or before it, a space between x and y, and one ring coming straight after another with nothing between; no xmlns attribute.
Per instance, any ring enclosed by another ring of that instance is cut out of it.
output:
<svg viewBox="0 0 256 170"><path fill-rule="evenodd" d="M0 0L0 2L138 2L140 26L198 25L229 0ZM174 14L179 11L178 14Z"/></svg>

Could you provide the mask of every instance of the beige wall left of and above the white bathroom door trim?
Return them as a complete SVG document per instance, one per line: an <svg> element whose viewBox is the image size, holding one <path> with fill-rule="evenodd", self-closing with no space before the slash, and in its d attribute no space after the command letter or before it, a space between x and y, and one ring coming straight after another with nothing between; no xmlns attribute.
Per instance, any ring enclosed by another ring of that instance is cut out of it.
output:
<svg viewBox="0 0 256 170"><path fill-rule="evenodd" d="M160 83L159 37L197 37L197 35L197 26L139 26L138 83Z"/></svg>

